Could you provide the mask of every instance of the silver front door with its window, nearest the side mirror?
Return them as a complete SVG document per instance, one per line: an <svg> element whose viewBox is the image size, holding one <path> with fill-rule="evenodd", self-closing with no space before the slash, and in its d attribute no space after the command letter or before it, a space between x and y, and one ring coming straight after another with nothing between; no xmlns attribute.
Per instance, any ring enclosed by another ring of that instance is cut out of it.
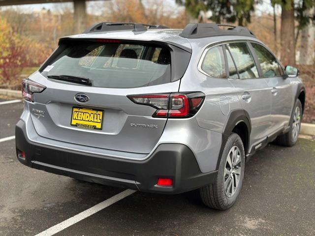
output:
<svg viewBox="0 0 315 236"><path fill-rule="evenodd" d="M269 134L274 134L287 126L290 120L293 104L290 80L284 79L282 66L267 48L258 43L252 43L252 48L268 84L272 102Z"/></svg>

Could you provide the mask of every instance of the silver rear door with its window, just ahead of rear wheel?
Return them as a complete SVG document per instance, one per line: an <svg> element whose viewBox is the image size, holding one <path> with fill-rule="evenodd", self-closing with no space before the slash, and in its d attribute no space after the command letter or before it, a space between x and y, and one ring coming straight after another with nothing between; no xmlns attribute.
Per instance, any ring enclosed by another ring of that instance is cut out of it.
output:
<svg viewBox="0 0 315 236"><path fill-rule="evenodd" d="M230 82L252 123L251 144L259 147L270 127L271 97L246 42L225 44ZM236 68L236 69L235 69Z"/></svg>

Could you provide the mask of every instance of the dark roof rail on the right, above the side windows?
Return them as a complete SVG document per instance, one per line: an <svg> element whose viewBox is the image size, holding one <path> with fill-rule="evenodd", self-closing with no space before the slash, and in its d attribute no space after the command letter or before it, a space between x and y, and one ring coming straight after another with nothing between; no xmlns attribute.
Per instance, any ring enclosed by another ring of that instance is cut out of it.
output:
<svg viewBox="0 0 315 236"><path fill-rule="evenodd" d="M221 29L220 27L227 27L227 29ZM255 37L252 31L246 27L214 23L188 24L179 35L185 38L203 38L223 35Z"/></svg>

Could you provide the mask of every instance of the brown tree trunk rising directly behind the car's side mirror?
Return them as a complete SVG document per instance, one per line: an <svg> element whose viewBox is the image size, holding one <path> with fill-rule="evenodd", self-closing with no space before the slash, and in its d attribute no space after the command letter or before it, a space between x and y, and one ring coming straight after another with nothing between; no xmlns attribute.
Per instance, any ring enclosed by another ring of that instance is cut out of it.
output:
<svg viewBox="0 0 315 236"><path fill-rule="evenodd" d="M282 8L281 13L281 60L285 65L295 65L294 6Z"/></svg>

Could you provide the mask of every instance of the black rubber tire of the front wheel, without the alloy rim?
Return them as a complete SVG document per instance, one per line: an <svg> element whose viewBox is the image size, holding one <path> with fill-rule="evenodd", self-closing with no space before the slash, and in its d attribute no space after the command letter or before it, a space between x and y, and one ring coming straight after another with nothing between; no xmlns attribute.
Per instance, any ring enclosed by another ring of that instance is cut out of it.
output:
<svg viewBox="0 0 315 236"><path fill-rule="evenodd" d="M299 124L298 124L298 131L297 131L297 136L294 137L293 135L293 128L294 128L294 113L296 111L296 108L299 108L300 109L300 118L299 118ZM285 133L285 134L282 134L282 135L279 135L277 137L277 139L275 140L274 143L278 144L278 145L281 145L281 146L285 146L285 147L291 147L293 145L296 144L297 142L297 139L298 139L298 136L299 136L299 132L300 132L300 128L301 128L301 122L302 122L302 117L303 117L303 110L302 110L302 103L299 99L296 100L295 102L295 105L294 105L294 108L293 108L293 112L292 112L292 115L291 115L291 118L290 118L290 129L289 129L289 132Z"/></svg>

